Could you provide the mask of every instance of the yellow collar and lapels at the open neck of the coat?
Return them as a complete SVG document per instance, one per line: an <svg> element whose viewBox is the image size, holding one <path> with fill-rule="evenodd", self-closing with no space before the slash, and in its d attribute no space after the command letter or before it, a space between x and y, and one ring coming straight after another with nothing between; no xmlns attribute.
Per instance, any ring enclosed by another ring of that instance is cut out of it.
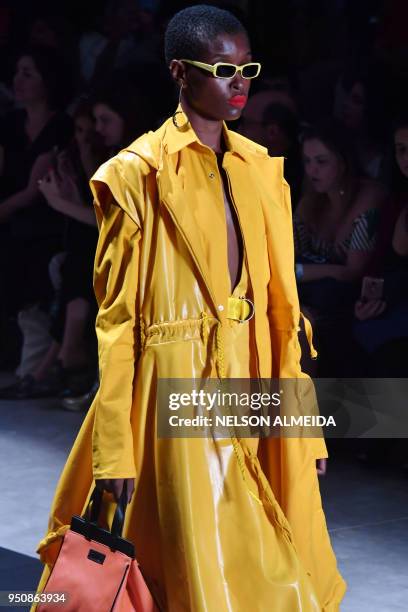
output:
<svg viewBox="0 0 408 612"><path fill-rule="evenodd" d="M181 111L181 107L178 107L177 110ZM179 164L180 151L193 142L199 142L199 140L184 113L181 112L177 120L184 127L176 128L172 120L169 119L157 132L149 133L142 139L138 139L128 149L141 155L157 169L160 202L168 210L175 226L185 240L213 300L214 312L218 317L219 313L216 307L218 301L193 214L194 198L198 197L196 178L187 176L182 164ZM256 198L259 199L258 194L251 192L250 202L244 201L241 194L246 196L249 193L248 185L252 180L247 168L248 155L251 158L254 155L265 158L267 152L263 147L234 132L230 132L226 126L224 126L224 136L230 149L224 165L231 178L232 195L238 209L249 272L252 276L256 273L256 262L262 261L262 259L259 259L260 249L262 248L259 231L264 231L263 217L261 208L258 206L259 202L255 201ZM148 154L149 150L154 151L154 155Z"/></svg>

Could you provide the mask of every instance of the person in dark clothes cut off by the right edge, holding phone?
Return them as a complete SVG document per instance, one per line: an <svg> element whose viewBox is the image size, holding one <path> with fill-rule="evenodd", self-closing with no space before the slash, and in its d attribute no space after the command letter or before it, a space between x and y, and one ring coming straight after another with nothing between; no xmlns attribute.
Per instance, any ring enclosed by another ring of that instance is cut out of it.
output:
<svg viewBox="0 0 408 612"><path fill-rule="evenodd" d="M408 376L408 118L395 125L393 140L392 196L382 231L387 248L382 249L382 261L372 271L384 279L384 291L377 299L360 298L354 309L354 338L367 364L364 374L379 378ZM408 468L403 439L360 440L358 459L368 465Z"/></svg>

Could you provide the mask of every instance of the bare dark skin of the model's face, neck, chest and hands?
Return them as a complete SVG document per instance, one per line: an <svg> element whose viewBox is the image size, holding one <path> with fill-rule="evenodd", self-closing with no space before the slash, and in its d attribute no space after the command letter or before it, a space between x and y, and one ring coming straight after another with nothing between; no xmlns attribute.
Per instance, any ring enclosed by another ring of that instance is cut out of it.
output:
<svg viewBox="0 0 408 612"><path fill-rule="evenodd" d="M244 33L223 34L203 47L200 57L194 58L207 64L228 62L242 65L252 61L249 41ZM243 243L235 207L231 201L228 177L222 168L226 150L223 141L223 121L239 119L242 108L229 104L233 96L248 96L250 81L237 74L232 79L218 79L196 66L174 59L170 72L181 88L181 106L200 141L210 147L217 156L223 182L225 215L228 239L228 266L231 289L236 286L242 268ZM326 471L326 459L317 460L318 474ZM129 499L134 489L133 478L127 478ZM124 479L97 480L96 485L113 493L116 499L122 491Z"/></svg>

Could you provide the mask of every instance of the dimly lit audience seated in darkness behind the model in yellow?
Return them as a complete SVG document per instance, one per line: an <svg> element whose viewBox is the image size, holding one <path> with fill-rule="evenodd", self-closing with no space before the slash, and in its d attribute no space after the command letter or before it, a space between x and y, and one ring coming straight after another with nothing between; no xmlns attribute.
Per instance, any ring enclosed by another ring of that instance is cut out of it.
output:
<svg viewBox="0 0 408 612"><path fill-rule="evenodd" d="M0 8L0 363L15 369L21 346L23 360L31 351L3 395L90 403L97 229L88 180L175 108L162 37L184 4L92 0L81 18L66 0L58 14L47 2ZM387 155L390 119L406 106L403 2L380 0L370 13L351 0L233 4L254 59L265 59L238 129L285 157L299 296L320 354L307 367L406 376L407 121L393 130L391 180ZM375 299L361 299L365 276L377 287L384 279Z"/></svg>

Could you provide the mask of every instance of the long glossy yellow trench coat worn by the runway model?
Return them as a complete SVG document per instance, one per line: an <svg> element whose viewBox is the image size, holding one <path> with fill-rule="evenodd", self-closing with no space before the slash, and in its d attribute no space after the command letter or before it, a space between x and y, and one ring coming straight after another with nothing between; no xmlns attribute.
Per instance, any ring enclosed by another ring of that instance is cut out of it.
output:
<svg viewBox="0 0 408 612"><path fill-rule="evenodd" d="M258 373L305 378L283 160L225 126L224 134L256 309ZM210 269L192 212L206 202L224 211L214 152L190 125L168 120L101 166L91 186L100 229L100 389L39 544L46 564L39 588L93 478L135 477L124 536L164 610L338 610L346 587L315 468L327 457L323 440L256 440L255 452L239 441L232 452L231 440L216 449L211 439L156 436L157 379L216 376L222 360L214 338L226 324L219 309L228 297L226 266ZM226 233L221 248L226 253Z"/></svg>

